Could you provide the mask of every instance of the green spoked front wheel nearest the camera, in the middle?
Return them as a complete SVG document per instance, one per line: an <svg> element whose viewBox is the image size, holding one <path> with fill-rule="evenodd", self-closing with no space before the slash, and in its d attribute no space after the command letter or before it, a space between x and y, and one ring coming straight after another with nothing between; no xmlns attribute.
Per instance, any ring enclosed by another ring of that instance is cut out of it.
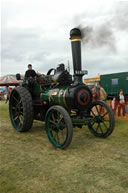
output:
<svg viewBox="0 0 128 193"><path fill-rule="evenodd" d="M61 106L51 107L45 118L45 128L50 142L65 149L72 141L72 121L68 112Z"/></svg>

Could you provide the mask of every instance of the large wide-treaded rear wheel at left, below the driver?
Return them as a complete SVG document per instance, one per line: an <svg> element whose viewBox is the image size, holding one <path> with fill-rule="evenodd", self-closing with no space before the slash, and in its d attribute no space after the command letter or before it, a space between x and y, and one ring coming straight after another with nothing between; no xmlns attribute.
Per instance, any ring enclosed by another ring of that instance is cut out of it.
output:
<svg viewBox="0 0 128 193"><path fill-rule="evenodd" d="M33 123L32 97L24 87L14 88L9 100L9 114L13 127L19 131L28 131Z"/></svg>

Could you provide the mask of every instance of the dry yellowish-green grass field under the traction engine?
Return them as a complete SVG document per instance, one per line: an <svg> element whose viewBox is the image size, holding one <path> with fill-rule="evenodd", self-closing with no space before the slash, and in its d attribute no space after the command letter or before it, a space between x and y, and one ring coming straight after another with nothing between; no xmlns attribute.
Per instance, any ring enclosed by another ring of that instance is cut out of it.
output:
<svg viewBox="0 0 128 193"><path fill-rule="evenodd" d="M55 149L44 124L27 133L0 104L0 193L128 193L128 122L117 120L106 139L74 128L71 145Z"/></svg>

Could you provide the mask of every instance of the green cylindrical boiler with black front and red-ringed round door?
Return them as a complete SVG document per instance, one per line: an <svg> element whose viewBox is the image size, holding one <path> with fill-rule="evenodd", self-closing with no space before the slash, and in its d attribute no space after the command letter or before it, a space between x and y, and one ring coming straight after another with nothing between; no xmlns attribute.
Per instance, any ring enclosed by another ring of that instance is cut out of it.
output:
<svg viewBox="0 0 128 193"><path fill-rule="evenodd" d="M47 89L40 97L44 104L61 105L68 110L85 110L92 102L92 93L84 84Z"/></svg>

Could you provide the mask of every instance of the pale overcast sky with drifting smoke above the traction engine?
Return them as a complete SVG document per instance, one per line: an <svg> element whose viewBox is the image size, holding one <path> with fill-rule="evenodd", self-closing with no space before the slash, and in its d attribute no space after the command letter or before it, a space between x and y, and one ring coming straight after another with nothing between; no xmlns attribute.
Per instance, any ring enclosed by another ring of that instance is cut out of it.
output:
<svg viewBox="0 0 128 193"><path fill-rule="evenodd" d="M128 1L2 0L0 76L31 63L46 73L59 63L72 71L70 30L80 27L86 77L128 71Z"/></svg>

